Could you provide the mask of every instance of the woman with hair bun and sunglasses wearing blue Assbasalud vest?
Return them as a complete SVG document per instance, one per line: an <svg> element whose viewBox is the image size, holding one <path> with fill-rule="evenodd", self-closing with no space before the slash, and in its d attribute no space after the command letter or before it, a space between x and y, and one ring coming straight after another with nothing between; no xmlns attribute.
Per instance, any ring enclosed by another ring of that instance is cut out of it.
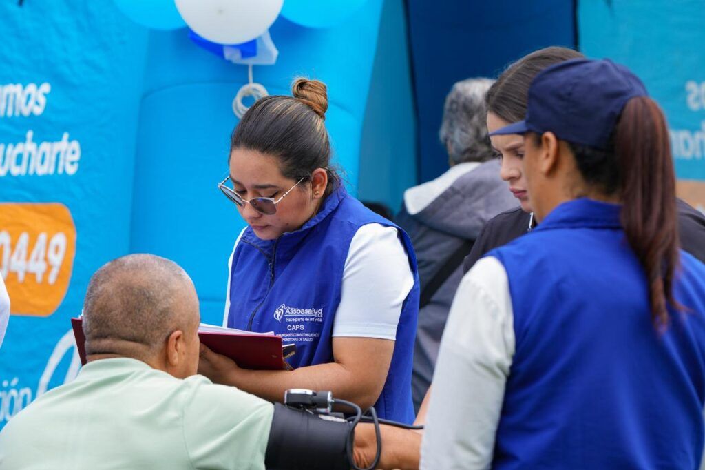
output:
<svg viewBox="0 0 705 470"><path fill-rule="evenodd" d="M295 370L244 370L204 348L200 373L272 401L290 388L331 390L410 423L414 251L331 169L327 107L317 80L258 100L233 131L220 185L248 224L231 255L223 323L294 343Z"/></svg>

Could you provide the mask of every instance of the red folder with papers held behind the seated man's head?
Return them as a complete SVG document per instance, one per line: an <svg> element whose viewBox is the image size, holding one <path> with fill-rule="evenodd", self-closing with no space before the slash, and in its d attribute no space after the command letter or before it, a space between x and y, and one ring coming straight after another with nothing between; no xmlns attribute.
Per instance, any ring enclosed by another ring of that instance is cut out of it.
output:
<svg viewBox="0 0 705 470"><path fill-rule="evenodd" d="M76 349L81 363L86 363L85 336L82 320L71 318ZM198 332L201 342L218 354L233 359L245 369L280 370L285 368L281 336L240 334L236 332Z"/></svg>

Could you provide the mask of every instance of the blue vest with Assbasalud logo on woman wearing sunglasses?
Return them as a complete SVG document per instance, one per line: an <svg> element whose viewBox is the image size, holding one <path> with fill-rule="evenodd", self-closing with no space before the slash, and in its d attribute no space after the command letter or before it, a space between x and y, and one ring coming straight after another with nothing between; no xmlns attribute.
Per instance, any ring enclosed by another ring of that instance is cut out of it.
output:
<svg viewBox="0 0 705 470"><path fill-rule="evenodd" d="M250 227L245 229L233 253L228 327L274 331L285 344L296 344L296 354L289 360L295 368L333 362L331 332L350 241L357 229L372 223L396 227L414 274L389 373L374 406L380 418L411 423L411 369L419 310L416 257L402 229L364 207L345 189L329 195L303 227L276 240L261 240ZM369 306L372 312L374 308Z"/></svg>

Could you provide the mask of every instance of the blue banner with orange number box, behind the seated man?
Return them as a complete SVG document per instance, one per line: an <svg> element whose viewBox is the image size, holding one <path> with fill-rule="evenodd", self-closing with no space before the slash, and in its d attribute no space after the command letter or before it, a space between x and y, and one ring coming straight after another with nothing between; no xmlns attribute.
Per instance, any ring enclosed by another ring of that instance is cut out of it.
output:
<svg viewBox="0 0 705 470"><path fill-rule="evenodd" d="M1 427L77 373L68 319L128 253L147 34L106 0L3 1L0 25Z"/></svg>

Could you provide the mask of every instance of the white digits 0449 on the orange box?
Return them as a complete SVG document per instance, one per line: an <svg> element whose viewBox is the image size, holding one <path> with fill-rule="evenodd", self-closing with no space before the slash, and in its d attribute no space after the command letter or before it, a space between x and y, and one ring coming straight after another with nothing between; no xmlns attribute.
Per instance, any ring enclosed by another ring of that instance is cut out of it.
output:
<svg viewBox="0 0 705 470"><path fill-rule="evenodd" d="M37 284L46 280L48 284L53 285L66 257L66 234L60 231L47 243L47 233L40 233L31 253L29 240L30 235L23 231L13 247L13 240L8 231L0 231L0 275L6 279L10 272L14 272L18 282L24 282L27 274L35 275ZM29 258L27 253L30 253ZM47 277L44 277L47 265L51 266L51 270Z"/></svg>

